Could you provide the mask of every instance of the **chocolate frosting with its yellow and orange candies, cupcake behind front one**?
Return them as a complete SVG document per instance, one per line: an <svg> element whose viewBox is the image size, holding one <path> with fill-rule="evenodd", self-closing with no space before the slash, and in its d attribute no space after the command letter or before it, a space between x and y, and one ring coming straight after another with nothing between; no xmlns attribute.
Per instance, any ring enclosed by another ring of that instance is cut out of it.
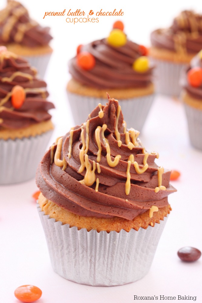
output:
<svg viewBox="0 0 202 303"><path fill-rule="evenodd" d="M144 88L152 82L147 48L130 41L123 27L113 28L107 38L79 45L68 67L73 79L98 89Z"/></svg>

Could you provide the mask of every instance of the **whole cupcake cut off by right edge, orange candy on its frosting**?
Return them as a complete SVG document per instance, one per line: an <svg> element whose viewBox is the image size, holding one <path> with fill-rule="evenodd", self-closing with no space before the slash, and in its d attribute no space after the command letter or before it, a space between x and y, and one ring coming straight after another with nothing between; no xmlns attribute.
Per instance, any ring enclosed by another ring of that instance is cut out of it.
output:
<svg viewBox="0 0 202 303"><path fill-rule="evenodd" d="M183 87L181 98L187 116L190 142L202 150L202 51L182 72L180 83Z"/></svg>

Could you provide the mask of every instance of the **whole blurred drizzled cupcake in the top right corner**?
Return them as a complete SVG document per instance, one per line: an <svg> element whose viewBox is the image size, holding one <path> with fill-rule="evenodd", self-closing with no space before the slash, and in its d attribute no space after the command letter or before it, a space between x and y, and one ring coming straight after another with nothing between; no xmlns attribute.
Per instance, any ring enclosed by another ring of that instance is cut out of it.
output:
<svg viewBox="0 0 202 303"><path fill-rule="evenodd" d="M151 33L150 57L155 65L157 92L177 97L181 70L202 48L202 15L181 12L171 27Z"/></svg>

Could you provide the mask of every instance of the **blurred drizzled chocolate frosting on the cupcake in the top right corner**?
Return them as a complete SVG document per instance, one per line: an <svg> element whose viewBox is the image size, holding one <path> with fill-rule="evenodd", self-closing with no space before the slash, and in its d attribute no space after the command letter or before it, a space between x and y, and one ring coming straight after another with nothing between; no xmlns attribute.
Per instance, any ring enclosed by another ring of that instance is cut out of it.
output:
<svg viewBox="0 0 202 303"><path fill-rule="evenodd" d="M175 52L197 53L202 48L202 15L183 11L171 27L151 33L151 44Z"/></svg>

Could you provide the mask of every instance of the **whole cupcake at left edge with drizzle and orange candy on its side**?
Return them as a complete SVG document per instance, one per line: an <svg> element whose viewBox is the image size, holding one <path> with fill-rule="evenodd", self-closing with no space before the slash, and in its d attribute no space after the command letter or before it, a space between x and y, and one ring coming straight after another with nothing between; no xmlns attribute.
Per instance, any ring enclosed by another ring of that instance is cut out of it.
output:
<svg viewBox="0 0 202 303"><path fill-rule="evenodd" d="M35 68L0 47L0 184L34 178L53 131L54 108Z"/></svg>

